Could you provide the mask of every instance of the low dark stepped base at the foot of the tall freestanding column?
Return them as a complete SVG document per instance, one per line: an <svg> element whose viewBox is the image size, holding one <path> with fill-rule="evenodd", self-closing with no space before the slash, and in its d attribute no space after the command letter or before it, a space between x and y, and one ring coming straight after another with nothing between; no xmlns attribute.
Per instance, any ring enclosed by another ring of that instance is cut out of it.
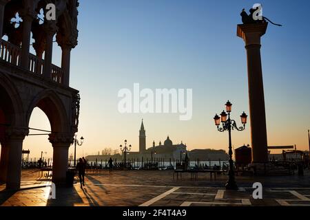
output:
<svg viewBox="0 0 310 220"><path fill-rule="evenodd" d="M270 162L258 163L252 162L248 165L248 168L254 170L254 175L266 175L266 176L279 176L279 175L291 175L291 170L282 166L274 166Z"/></svg>

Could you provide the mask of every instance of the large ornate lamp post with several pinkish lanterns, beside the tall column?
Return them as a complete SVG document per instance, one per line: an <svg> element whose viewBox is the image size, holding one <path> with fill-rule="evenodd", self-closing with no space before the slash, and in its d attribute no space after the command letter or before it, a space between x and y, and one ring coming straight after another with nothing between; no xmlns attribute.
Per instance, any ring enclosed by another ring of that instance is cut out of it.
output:
<svg viewBox="0 0 310 220"><path fill-rule="evenodd" d="M231 146L231 130L236 129L237 131L245 130L245 124L247 124L247 114L245 112L240 115L241 122L243 126L238 127L235 120L231 120L230 113L231 113L231 106L232 104L228 101L226 104L226 112L223 111L220 113L220 117L216 114L214 117L214 122L218 127L218 131L224 132L228 131L228 140L229 140L229 170L228 176L229 179L225 185L227 190L236 190L238 186L235 181L235 173L234 173L234 161L232 159L232 146ZM227 114L228 113L228 114ZM228 118L227 118L228 115ZM222 122L222 127L220 127L220 122Z"/></svg>

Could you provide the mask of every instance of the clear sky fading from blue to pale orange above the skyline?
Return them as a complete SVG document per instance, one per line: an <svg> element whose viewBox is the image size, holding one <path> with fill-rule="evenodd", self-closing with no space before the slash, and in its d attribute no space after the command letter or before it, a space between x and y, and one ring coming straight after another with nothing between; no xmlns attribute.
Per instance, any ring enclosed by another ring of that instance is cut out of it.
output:
<svg viewBox="0 0 310 220"><path fill-rule="evenodd" d="M81 94L77 155L91 155L123 140L138 151L141 119L147 146L163 142L187 148L228 148L228 134L214 125L215 113L233 103L232 118L249 114L245 44L236 36L242 8L262 3L270 25L262 36L262 74L269 146L296 144L307 150L310 128L309 1L92 0L80 1L79 45L72 50L70 86ZM54 43L53 63L61 49ZM118 111L118 91L141 88L193 89L192 120L178 113ZM39 109L30 127L50 129ZM232 133L234 147L250 144L250 124ZM30 157L52 157L46 136L26 137ZM74 148L70 147L70 153ZM44 155L43 155L44 156Z"/></svg>

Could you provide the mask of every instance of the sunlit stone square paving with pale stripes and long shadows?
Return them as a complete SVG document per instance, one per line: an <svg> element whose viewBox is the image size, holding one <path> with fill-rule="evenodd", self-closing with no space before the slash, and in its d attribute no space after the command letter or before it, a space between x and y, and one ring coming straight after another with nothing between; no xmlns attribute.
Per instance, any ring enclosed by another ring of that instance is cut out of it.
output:
<svg viewBox="0 0 310 220"><path fill-rule="evenodd" d="M56 199L48 199L50 178L38 170L23 170L21 190L6 191L0 184L0 206L310 206L310 170L304 176L236 176L238 191L225 190L227 175L197 180L183 174L173 179L171 170L107 170L88 173L85 187L56 188ZM77 180L77 179L76 179ZM261 182L263 199L252 197L254 182Z"/></svg>

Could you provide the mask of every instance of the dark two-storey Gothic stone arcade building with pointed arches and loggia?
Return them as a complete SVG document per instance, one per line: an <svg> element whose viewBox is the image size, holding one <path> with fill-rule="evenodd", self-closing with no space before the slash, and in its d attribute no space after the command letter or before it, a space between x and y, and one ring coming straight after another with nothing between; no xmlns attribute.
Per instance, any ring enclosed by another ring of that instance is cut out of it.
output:
<svg viewBox="0 0 310 220"><path fill-rule="evenodd" d="M70 51L77 45L77 0L57 0L56 20L39 23L43 0L0 0L0 181L19 189L23 140L32 110L39 107L50 121L54 148L52 181L65 183L68 149L79 124L79 91L69 87ZM11 19L23 20L16 28ZM36 54L30 54L30 36ZM52 44L61 47L61 67L52 64ZM44 53L44 59L43 59Z"/></svg>

